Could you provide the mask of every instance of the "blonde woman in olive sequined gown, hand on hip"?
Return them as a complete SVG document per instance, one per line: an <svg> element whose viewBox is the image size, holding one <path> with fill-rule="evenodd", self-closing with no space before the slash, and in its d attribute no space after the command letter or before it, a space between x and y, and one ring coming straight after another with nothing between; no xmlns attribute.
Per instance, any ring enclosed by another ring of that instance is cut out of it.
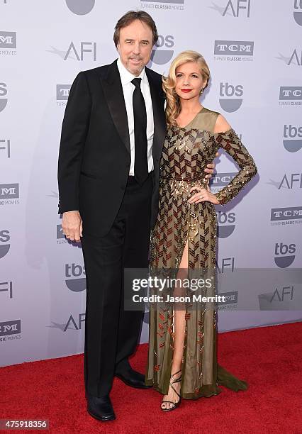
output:
<svg viewBox="0 0 302 434"><path fill-rule="evenodd" d="M201 106L207 86L208 65L192 51L181 53L163 79L167 94L167 135L160 163L160 199L157 223L150 240L150 274L172 269L185 279L198 270L212 270L215 292L215 204L233 199L257 173L254 160L225 118ZM207 188L203 169L219 148L233 157L240 171L217 194ZM174 295L177 294L174 288ZM183 294L183 293L182 293ZM183 305L150 305L150 345L146 384L164 394L162 410L180 404L180 397L196 399L220 393L218 385L235 391L247 389L218 365L216 311ZM213 306L212 306L213 307ZM171 377L174 374L174 377ZM177 382L171 383L172 379Z"/></svg>

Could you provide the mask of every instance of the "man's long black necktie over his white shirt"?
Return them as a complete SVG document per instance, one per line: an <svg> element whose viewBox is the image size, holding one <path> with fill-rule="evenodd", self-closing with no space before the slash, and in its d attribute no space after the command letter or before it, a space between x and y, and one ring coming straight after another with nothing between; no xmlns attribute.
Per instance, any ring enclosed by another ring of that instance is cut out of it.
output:
<svg viewBox="0 0 302 434"><path fill-rule="evenodd" d="M135 85L133 91L133 115L134 115L134 176L139 184L142 184L148 176L147 163L147 112L145 99L142 96L140 82L142 79L135 78L131 81Z"/></svg>

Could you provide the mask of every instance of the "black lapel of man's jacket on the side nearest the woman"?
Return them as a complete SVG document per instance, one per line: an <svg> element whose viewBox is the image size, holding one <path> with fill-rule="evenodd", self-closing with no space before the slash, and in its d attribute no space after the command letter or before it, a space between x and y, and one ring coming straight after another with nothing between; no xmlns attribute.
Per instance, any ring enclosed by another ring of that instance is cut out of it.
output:
<svg viewBox="0 0 302 434"><path fill-rule="evenodd" d="M150 86L150 94L152 99L152 110L154 120L154 137L152 145L153 160L159 162L160 155L162 154L162 145L164 143L164 136L166 134L166 118L164 116L164 96L163 91L158 82L152 77L150 69L145 68L147 79Z"/></svg>

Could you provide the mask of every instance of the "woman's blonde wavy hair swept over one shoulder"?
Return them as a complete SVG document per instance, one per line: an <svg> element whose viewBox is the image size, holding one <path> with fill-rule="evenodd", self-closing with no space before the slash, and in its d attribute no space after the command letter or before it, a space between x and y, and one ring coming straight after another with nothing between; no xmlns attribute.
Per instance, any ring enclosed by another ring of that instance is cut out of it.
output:
<svg viewBox="0 0 302 434"><path fill-rule="evenodd" d="M205 88L208 86L210 69L208 69L208 65L206 60L204 60L203 55L192 50L186 50L179 53L170 66L168 77L162 77L162 89L164 89L164 93L167 97L166 119L168 126L177 126L175 119L179 116L181 105L179 102L179 96L175 91L177 82L176 69L187 62L198 63L201 69L201 76L203 77L203 80L206 80Z"/></svg>

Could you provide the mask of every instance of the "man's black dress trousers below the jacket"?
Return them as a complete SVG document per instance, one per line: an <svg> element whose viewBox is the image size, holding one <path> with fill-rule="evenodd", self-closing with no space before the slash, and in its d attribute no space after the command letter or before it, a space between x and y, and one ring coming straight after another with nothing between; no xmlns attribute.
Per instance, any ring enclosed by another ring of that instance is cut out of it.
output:
<svg viewBox="0 0 302 434"><path fill-rule="evenodd" d="M83 230L84 379L86 392L93 396L109 393L116 369L125 372L129 368L128 357L140 338L143 312L123 309L123 269L148 266L152 189L152 174L143 184L129 177L108 234L98 238Z"/></svg>

